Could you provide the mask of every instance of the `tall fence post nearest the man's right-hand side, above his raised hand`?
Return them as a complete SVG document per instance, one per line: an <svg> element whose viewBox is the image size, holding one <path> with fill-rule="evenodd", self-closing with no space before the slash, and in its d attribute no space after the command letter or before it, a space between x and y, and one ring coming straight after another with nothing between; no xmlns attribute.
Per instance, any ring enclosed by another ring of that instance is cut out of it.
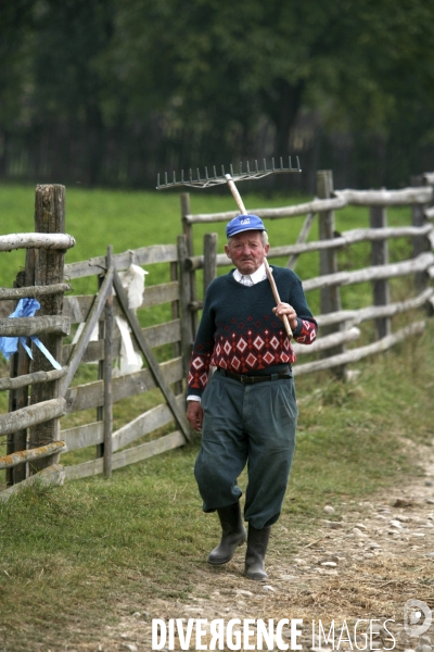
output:
<svg viewBox="0 0 434 652"><path fill-rule="evenodd" d="M317 172L317 196L319 199L330 199L333 193L333 172L331 170L319 170ZM318 213L318 230L320 240L332 240L334 238L334 211L322 211ZM335 249L324 249L319 252L320 275L335 274L337 268L337 254ZM330 286L320 290L321 313L339 312L341 310L341 290L340 286ZM340 324L331 324L321 327L323 335L330 335L342 330ZM345 344L340 344L329 349L324 355L327 358L344 353ZM340 377L345 376L345 366L336 367L335 374Z"/></svg>

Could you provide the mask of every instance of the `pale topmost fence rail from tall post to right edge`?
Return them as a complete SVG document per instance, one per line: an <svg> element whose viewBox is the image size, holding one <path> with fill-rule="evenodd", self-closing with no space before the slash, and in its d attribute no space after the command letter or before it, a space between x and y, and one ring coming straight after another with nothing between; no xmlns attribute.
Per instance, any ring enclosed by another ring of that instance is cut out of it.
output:
<svg viewBox="0 0 434 652"><path fill-rule="evenodd" d="M433 189L429 186L404 188L403 190L335 190L334 195L348 204L357 206L403 206L414 203L429 203Z"/></svg>

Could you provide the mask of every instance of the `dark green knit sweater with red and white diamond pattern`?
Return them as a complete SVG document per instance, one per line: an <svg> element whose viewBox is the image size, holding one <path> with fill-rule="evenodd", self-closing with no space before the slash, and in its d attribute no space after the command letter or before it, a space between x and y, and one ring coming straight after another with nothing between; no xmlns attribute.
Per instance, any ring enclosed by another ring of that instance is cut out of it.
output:
<svg viewBox="0 0 434 652"><path fill-rule="evenodd" d="M293 336L310 344L317 323L307 305L298 276L285 267L272 266L281 301L298 316ZM209 366L235 374L260 372L269 366L295 362L295 353L276 306L268 279L246 287L233 278L233 269L209 285L190 363L188 396L201 396L208 381Z"/></svg>

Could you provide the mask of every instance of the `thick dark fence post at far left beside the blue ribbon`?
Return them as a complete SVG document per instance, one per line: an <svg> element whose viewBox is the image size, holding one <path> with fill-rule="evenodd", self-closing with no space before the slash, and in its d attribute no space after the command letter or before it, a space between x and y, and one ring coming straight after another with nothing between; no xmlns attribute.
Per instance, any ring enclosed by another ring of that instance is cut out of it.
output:
<svg viewBox="0 0 434 652"><path fill-rule="evenodd" d="M35 231L42 234L65 233L65 187L58 184L37 186L35 195ZM65 250L37 249L35 251L35 285L53 285L63 281L63 267ZM40 297L40 315L62 315L63 292ZM62 334L46 334L40 337L41 342L58 362L62 356ZM33 347L34 371L50 371L51 363L37 349ZM31 388L30 404L40 403L60 396L60 381L40 383ZM30 428L29 448L38 448L60 439L60 418ZM34 461L30 473L55 464L59 455L51 455Z"/></svg>

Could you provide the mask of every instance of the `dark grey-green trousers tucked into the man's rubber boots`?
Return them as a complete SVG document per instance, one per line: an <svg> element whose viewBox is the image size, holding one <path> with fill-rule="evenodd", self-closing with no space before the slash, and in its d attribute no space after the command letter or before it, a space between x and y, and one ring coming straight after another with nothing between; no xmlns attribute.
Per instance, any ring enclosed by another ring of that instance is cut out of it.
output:
<svg viewBox="0 0 434 652"><path fill-rule="evenodd" d="M242 385L216 372L202 398L202 447L194 476L204 512L235 503L247 464L244 517L256 529L280 516L295 448L292 378Z"/></svg>

